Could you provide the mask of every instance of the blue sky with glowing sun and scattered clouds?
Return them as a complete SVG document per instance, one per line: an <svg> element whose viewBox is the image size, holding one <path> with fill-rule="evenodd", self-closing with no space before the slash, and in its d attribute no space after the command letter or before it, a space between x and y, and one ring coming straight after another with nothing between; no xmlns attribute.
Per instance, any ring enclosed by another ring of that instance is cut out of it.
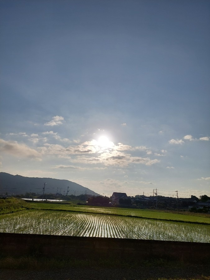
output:
<svg viewBox="0 0 210 280"><path fill-rule="evenodd" d="M210 2L1 0L2 172L210 194Z"/></svg>

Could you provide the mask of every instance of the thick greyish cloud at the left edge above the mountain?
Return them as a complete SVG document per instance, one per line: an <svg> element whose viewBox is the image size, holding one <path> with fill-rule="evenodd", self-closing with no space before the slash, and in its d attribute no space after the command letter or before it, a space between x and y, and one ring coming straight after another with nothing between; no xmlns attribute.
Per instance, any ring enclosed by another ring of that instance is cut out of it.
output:
<svg viewBox="0 0 210 280"><path fill-rule="evenodd" d="M26 144L19 144L16 141L5 141L0 139L0 150L20 158L30 158L41 160L41 154L34 149L31 149Z"/></svg>

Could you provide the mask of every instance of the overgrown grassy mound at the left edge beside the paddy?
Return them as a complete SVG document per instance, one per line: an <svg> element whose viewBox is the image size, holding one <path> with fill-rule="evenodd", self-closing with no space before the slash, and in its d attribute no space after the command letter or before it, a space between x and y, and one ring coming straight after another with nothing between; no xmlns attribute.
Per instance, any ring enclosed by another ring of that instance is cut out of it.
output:
<svg viewBox="0 0 210 280"><path fill-rule="evenodd" d="M0 215L26 210L28 207L28 203L22 199L14 197L0 199Z"/></svg>

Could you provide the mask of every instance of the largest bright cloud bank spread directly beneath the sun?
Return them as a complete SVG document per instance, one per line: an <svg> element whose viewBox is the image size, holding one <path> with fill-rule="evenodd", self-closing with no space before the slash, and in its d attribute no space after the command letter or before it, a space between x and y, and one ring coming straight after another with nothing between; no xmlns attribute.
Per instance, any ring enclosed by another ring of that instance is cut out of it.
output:
<svg viewBox="0 0 210 280"><path fill-rule="evenodd" d="M54 135L53 132L47 134ZM55 135L56 136L56 135ZM145 146L132 147L118 143L114 145L110 142L110 147L100 147L96 140L86 141L80 145L70 145L63 147L58 144L45 143L43 147L38 147L38 151L43 155L57 155L60 158L68 158L74 163L83 164L103 164L105 166L128 166L132 163L151 166L160 162L158 159L149 157L132 156L127 151L148 151ZM156 153L157 156L163 156Z"/></svg>

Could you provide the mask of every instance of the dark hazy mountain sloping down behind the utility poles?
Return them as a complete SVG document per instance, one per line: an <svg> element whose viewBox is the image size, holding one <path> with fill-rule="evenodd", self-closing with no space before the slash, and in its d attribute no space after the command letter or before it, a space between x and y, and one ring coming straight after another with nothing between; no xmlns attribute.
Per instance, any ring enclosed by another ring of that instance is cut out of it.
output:
<svg viewBox="0 0 210 280"><path fill-rule="evenodd" d="M58 193L68 195L70 194L96 194L94 191L85 188L77 183L68 181L68 180L60 180L60 179L52 179L52 178L35 178L35 177L23 177L20 175L11 175L5 172L0 172L0 194L4 194L5 192L9 194L25 194L26 192L32 193L43 193L43 187L45 184L44 193L45 194L56 194Z"/></svg>

